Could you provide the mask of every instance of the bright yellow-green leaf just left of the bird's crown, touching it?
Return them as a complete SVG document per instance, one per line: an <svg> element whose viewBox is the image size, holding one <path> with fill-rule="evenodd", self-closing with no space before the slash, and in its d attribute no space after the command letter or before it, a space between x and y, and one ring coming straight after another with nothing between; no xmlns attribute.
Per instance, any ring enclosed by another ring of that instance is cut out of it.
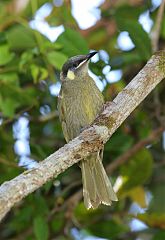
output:
<svg viewBox="0 0 165 240"><path fill-rule="evenodd" d="M53 51L47 54L47 59L50 64L52 64L55 68L60 70L62 65L67 60L67 57L61 52Z"/></svg>

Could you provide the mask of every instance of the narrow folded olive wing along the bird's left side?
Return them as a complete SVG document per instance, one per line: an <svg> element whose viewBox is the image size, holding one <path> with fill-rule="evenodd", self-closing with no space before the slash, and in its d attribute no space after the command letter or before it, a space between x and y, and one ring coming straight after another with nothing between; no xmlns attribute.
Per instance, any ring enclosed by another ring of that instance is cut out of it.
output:
<svg viewBox="0 0 165 240"><path fill-rule="evenodd" d="M66 111L65 111L66 107L65 107L65 102L64 102L64 99L63 99L62 89L61 89L59 97L58 97L57 108L58 108L59 119L60 119L60 122L61 122L61 126L62 126L62 130L63 130L65 140L67 142L69 142L69 135L68 135L66 121L65 121L65 119L66 119Z"/></svg>

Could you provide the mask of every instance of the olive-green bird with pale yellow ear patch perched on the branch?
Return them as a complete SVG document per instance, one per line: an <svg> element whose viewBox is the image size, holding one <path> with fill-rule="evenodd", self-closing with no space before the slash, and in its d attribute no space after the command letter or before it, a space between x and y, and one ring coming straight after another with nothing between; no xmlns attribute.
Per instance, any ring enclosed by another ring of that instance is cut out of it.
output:
<svg viewBox="0 0 165 240"><path fill-rule="evenodd" d="M67 142L90 125L103 108L103 95L88 74L88 61L96 53L74 56L62 67L58 110ZM112 201L117 201L102 158L103 151L98 151L80 161L87 208L97 208L101 203L111 205Z"/></svg>

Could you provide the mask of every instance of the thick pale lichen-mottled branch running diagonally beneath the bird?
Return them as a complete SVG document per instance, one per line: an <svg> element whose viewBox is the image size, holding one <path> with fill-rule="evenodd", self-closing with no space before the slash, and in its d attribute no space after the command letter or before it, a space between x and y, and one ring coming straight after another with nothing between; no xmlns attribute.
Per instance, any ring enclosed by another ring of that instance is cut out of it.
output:
<svg viewBox="0 0 165 240"><path fill-rule="evenodd" d="M103 147L130 113L165 77L165 52L151 57L138 75L120 92L93 125L77 138L47 157L34 169L25 171L0 187L0 219L16 203L51 178Z"/></svg>

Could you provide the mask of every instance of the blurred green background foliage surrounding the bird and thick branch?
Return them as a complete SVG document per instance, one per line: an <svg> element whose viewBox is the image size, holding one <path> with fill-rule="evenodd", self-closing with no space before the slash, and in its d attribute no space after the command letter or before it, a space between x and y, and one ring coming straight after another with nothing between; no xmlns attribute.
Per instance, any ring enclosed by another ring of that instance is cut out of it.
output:
<svg viewBox="0 0 165 240"><path fill-rule="evenodd" d="M62 1L59 6L58 1L23 2L0 2L0 183L14 178L65 143L56 94L65 60L98 50L98 60L90 63L90 69L104 85L105 100L112 100L152 55L152 34L138 20L147 11L154 26L158 12L151 1L105 1L98 7L101 19L82 30L72 16L70 1ZM52 9L44 21L51 27L64 27L54 42L31 27L43 5ZM123 31L134 44L131 49L118 45ZM164 48L165 16L159 40L159 48ZM122 71L120 81L109 83L109 65L111 71ZM163 84L106 144L105 165L160 127L165 104ZM77 239L75 229L82 239L89 235L113 240L165 239L162 143L161 137L155 138L113 171L112 182L120 182L120 186L119 202L111 207L85 209L80 198L80 170L73 166L15 206L1 223L0 239ZM131 223L135 219L145 223L146 229L133 231L136 229Z"/></svg>

